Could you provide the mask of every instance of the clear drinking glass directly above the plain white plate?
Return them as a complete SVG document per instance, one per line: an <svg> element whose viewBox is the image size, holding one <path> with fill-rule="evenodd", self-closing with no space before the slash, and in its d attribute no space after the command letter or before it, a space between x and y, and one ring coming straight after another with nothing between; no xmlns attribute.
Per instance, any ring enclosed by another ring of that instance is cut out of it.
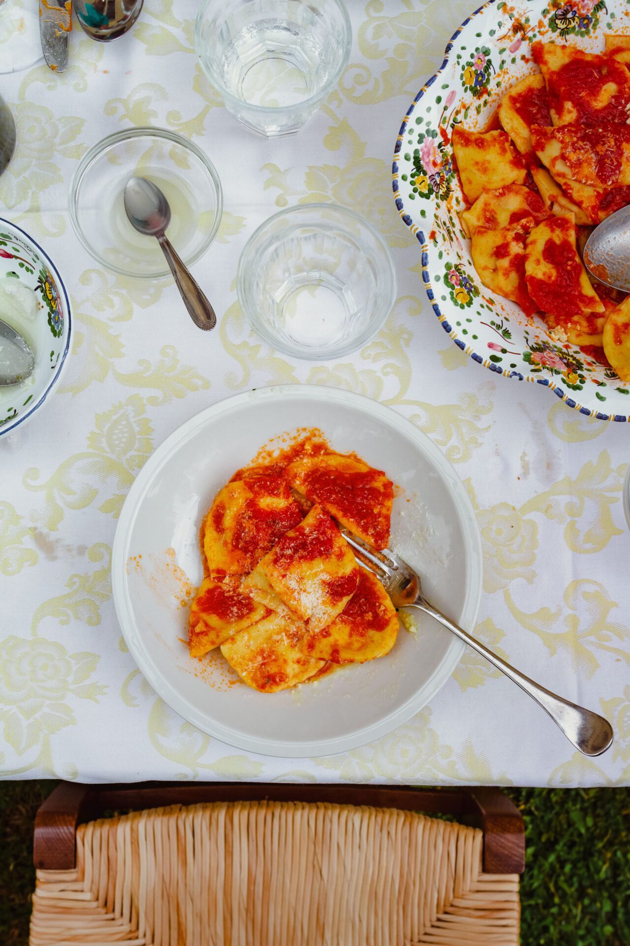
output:
<svg viewBox="0 0 630 946"><path fill-rule="evenodd" d="M383 237L332 203L298 204L249 237L236 274L249 323L299 359L348 355L383 327L396 275Z"/></svg>

